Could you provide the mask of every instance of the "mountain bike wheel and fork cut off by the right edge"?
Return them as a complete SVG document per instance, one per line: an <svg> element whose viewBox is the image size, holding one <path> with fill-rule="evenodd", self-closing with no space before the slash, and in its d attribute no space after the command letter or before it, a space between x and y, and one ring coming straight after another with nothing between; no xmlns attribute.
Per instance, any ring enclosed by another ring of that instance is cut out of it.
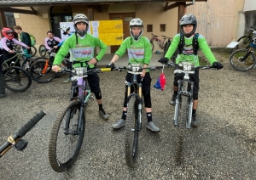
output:
<svg viewBox="0 0 256 180"><path fill-rule="evenodd" d="M230 65L235 70L251 70L256 68L256 58L253 48L256 48L256 31L253 31L253 37L249 44L249 48L237 49L230 55Z"/></svg>

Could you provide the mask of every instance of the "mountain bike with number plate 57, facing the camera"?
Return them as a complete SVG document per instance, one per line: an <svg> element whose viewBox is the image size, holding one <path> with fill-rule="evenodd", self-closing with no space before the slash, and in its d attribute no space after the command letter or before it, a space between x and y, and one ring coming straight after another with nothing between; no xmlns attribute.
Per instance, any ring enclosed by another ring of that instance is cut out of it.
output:
<svg viewBox="0 0 256 180"><path fill-rule="evenodd" d="M161 68L163 66L160 66ZM129 64L128 67L115 67L113 70L128 70L133 74L132 82L128 82L127 114L125 120L125 161L129 167L134 167L137 160L138 136L142 129L143 83L137 81L137 76L143 70L156 70L157 67L143 68L143 65ZM133 92L131 92L133 90Z"/></svg>

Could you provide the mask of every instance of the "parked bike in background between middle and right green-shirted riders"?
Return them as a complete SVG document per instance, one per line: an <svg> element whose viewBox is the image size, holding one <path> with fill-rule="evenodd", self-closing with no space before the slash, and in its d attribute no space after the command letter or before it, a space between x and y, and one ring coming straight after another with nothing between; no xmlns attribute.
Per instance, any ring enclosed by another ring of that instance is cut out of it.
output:
<svg viewBox="0 0 256 180"><path fill-rule="evenodd" d="M157 42L158 46L161 48L161 49L164 49L164 55L163 57L165 57L167 51L168 51L168 48L170 47L171 43L172 43L172 37L166 37L166 36L163 36L163 40L160 40L158 38L158 36L155 36L153 33L151 33L152 35L152 38L150 39L150 44L151 44L151 49L152 51L154 50L154 41ZM167 40L167 41L166 41ZM172 62L175 62L175 59L177 58L177 50L175 51L175 53L173 53L171 59L172 59Z"/></svg>

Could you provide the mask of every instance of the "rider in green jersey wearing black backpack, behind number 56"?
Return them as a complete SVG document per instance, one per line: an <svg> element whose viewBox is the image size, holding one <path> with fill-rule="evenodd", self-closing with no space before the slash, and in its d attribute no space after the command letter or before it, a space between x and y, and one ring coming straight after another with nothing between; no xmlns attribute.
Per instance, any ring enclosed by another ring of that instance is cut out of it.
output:
<svg viewBox="0 0 256 180"><path fill-rule="evenodd" d="M197 20L193 14L185 14L179 21L180 33L173 37L172 44L168 48L165 57L158 60L162 64L166 64L171 59L172 54L177 49L176 64L183 61L184 59L189 62L194 62L195 66L200 66L197 51L200 48L202 53L207 57L210 64L217 68L222 69L224 66L218 62L211 48L209 48L206 38L201 34L195 33ZM170 100L171 105L176 104L177 96L177 81L183 78L183 74L174 74L173 82L173 94ZM193 86L193 110L192 110L192 121L191 126L197 127L198 122L196 121L196 110L198 106L198 91L199 91L199 70L195 70L195 74L189 75L190 81L194 82Z"/></svg>

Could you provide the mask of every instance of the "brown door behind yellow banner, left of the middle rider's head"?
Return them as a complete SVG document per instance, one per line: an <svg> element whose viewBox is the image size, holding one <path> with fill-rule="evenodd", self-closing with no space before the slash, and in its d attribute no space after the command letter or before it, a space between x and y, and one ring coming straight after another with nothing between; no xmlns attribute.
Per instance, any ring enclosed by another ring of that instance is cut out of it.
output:
<svg viewBox="0 0 256 180"><path fill-rule="evenodd" d="M130 37L130 21L135 18L135 13L109 14L109 20L123 20L123 39ZM115 53L120 46L111 46L111 53Z"/></svg>

